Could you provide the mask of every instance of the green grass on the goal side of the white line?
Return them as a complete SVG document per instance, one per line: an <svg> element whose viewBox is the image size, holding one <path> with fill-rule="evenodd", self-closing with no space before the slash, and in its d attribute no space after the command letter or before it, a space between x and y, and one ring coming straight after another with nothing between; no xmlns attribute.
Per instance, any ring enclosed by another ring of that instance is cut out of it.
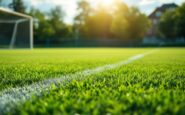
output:
<svg viewBox="0 0 185 115"><path fill-rule="evenodd" d="M124 60L150 49L36 49L0 51L0 91Z"/></svg>

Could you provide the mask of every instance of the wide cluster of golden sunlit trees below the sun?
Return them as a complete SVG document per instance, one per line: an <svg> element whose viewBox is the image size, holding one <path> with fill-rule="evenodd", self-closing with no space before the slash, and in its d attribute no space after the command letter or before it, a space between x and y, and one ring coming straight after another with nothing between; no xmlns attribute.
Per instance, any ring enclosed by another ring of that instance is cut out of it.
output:
<svg viewBox="0 0 185 115"><path fill-rule="evenodd" d="M112 7L100 4L96 9L81 0L78 10L74 26L79 38L141 41L150 26L146 15L135 7L128 7L121 0L117 0Z"/></svg>

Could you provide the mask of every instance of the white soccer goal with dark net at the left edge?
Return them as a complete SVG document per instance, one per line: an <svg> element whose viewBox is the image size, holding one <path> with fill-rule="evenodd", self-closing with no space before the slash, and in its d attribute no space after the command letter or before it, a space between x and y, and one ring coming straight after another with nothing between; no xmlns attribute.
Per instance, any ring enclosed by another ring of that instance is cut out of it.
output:
<svg viewBox="0 0 185 115"><path fill-rule="evenodd" d="M33 49L32 17L0 8L0 47Z"/></svg>

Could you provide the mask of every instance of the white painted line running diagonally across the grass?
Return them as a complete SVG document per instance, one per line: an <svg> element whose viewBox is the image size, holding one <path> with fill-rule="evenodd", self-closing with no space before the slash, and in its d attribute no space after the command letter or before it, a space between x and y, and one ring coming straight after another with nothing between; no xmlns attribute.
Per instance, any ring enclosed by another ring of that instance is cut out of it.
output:
<svg viewBox="0 0 185 115"><path fill-rule="evenodd" d="M26 100L30 99L31 96L41 96L44 92L47 92L51 89L51 86L55 84L66 84L71 82L72 80L83 80L85 77L100 73L106 70L111 70L118 68L123 65L127 65L135 60L141 59L146 55L154 53L157 50L152 50L143 54L135 55L133 57L128 58L127 60L114 63L107 64L104 66L97 67L95 69L87 69L82 72L77 72L71 75L64 75L59 78L47 79L40 82L33 83L32 85L28 85L25 87L12 88L3 91L0 93L0 114L11 111L12 108L17 106L18 104L24 103Z"/></svg>

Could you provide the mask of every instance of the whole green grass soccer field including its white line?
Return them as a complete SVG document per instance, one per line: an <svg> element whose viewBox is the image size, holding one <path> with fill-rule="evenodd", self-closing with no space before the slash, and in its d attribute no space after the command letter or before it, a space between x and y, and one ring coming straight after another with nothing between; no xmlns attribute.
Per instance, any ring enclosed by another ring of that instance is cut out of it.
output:
<svg viewBox="0 0 185 115"><path fill-rule="evenodd" d="M185 114L185 48L0 50L0 114Z"/></svg>

